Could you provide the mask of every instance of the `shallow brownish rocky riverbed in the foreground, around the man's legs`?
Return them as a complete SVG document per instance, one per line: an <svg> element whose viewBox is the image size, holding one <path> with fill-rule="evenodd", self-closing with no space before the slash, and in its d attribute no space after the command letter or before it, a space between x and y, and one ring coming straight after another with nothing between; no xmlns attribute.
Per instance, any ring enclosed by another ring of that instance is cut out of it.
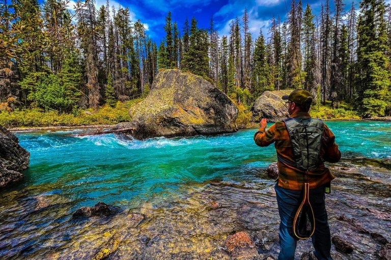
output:
<svg viewBox="0 0 391 260"><path fill-rule="evenodd" d="M391 178L384 165L354 158L330 166L337 176L326 196L333 259L388 259ZM113 205L114 214L106 214L111 206L95 205L81 210L102 210L87 218L72 217L75 202L47 185L4 193L0 258L276 258L275 182L266 169L242 174L246 177L183 184L176 196L157 196L131 209ZM311 240L300 241L297 259L307 259L311 248Z"/></svg>

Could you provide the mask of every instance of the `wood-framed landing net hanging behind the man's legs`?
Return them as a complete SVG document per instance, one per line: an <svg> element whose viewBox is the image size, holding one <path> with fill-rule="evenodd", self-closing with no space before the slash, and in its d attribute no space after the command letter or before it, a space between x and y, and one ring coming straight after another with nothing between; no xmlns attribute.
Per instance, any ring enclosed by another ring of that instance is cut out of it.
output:
<svg viewBox="0 0 391 260"><path fill-rule="evenodd" d="M303 201L293 220L293 234L298 239L310 238L315 232L314 211L310 204L310 184L304 183Z"/></svg>

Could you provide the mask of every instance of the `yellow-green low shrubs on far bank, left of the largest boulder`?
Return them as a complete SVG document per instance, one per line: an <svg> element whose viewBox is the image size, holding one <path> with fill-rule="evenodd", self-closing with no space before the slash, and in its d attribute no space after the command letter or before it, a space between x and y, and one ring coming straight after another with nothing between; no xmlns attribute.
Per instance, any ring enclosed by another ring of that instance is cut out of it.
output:
<svg viewBox="0 0 391 260"><path fill-rule="evenodd" d="M117 102L114 108L102 106L99 109L78 109L71 114L58 111L44 112L42 109L16 109L1 111L0 124L5 127L79 126L93 124L117 124L130 121L129 108L142 99Z"/></svg>

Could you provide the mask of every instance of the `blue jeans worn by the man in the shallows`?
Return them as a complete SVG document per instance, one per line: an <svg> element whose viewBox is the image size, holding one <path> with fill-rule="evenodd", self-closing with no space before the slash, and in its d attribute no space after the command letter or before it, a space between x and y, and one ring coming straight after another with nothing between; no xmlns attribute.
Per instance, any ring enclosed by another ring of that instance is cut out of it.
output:
<svg viewBox="0 0 391 260"><path fill-rule="evenodd" d="M293 235L293 219L302 201L300 190L284 189L275 185L278 213L280 213L280 254L279 260L293 260L295 258L296 242ZM332 260L330 255L331 238L327 223L326 205L324 203L324 187L310 189L310 203L315 215L315 233L312 236L314 254L318 260Z"/></svg>

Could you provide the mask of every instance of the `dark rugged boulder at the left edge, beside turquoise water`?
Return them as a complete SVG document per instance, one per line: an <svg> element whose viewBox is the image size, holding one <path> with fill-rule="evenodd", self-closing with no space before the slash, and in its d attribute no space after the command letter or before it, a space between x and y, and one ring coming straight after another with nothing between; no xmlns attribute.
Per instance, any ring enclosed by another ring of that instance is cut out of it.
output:
<svg viewBox="0 0 391 260"><path fill-rule="evenodd" d="M20 180L29 161L30 153L19 145L18 138L0 125L0 188Z"/></svg>

